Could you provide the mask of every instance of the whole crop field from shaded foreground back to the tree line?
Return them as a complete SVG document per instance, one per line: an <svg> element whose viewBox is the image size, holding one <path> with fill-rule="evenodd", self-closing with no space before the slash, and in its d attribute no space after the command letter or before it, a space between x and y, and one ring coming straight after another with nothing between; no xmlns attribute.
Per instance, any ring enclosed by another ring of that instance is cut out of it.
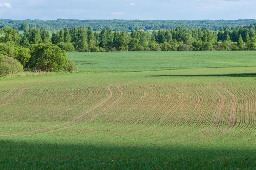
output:
<svg viewBox="0 0 256 170"><path fill-rule="evenodd" d="M0 169L256 169L253 51L68 56L0 79Z"/></svg>

